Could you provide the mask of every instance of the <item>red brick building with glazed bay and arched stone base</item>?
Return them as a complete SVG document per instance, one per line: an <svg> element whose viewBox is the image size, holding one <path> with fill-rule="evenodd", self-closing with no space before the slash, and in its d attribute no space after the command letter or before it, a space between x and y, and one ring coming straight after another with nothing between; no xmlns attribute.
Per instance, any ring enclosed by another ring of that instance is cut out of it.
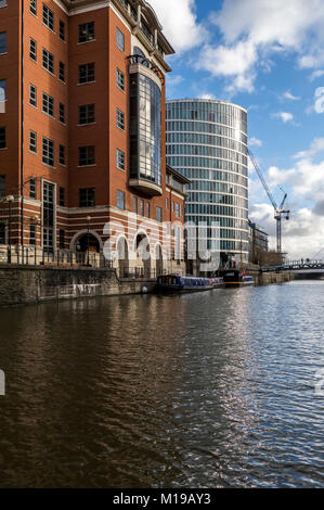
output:
<svg viewBox="0 0 324 510"><path fill-rule="evenodd" d="M183 222L187 181L169 170L170 201L171 53L144 0L0 0L0 245L102 253L111 239L134 266L145 238L174 258L163 222Z"/></svg>

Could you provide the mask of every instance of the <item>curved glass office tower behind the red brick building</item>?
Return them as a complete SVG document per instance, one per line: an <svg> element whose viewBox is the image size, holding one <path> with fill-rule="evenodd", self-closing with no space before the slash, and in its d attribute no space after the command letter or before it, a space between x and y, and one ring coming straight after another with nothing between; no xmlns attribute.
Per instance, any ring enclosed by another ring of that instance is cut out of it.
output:
<svg viewBox="0 0 324 510"><path fill-rule="evenodd" d="M171 100L166 118L167 163L191 180L186 221L207 224L207 248L220 251L224 263L229 256L247 260L246 110L216 100ZM216 221L219 230L211 228Z"/></svg>

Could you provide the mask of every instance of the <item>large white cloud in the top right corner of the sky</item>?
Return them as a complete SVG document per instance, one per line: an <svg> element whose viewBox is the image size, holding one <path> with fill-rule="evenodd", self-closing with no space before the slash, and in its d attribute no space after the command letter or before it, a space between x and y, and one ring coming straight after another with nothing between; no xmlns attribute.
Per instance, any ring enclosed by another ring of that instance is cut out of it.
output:
<svg viewBox="0 0 324 510"><path fill-rule="evenodd" d="M226 78L231 92L251 92L272 54L295 53L301 68L324 64L322 0L224 0L210 21L222 40L202 49L197 66Z"/></svg>

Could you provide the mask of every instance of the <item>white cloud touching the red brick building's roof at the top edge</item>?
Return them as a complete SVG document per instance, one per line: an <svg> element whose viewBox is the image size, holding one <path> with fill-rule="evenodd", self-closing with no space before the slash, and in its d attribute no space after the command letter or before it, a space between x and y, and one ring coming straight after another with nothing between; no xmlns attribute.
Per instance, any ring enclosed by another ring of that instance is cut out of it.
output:
<svg viewBox="0 0 324 510"><path fill-rule="evenodd" d="M199 46L206 30L197 23L195 0L150 0L176 52L182 53Z"/></svg>

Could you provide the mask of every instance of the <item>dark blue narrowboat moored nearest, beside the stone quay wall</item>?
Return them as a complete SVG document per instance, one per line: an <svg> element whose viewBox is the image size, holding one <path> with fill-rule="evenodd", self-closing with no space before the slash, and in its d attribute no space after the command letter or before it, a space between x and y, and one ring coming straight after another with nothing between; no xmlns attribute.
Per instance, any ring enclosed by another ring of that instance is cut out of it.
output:
<svg viewBox="0 0 324 510"><path fill-rule="evenodd" d="M223 279L200 278L200 277L180 277L177 275L164 275L157 279L159 291L166 292L198 292L209 291L223 286Z"/></svg>

